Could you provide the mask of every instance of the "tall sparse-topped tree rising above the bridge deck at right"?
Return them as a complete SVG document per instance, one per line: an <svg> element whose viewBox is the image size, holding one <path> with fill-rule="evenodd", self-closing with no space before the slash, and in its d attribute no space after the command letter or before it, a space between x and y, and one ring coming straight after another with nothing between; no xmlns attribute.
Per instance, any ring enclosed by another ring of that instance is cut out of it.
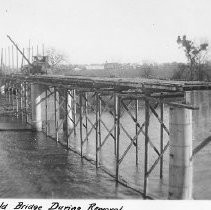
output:
<svg viewBox="0 0 211 210"><path fill-rule="evenodd" d="M205 76L208 77L204 71L208 43L205 42L196 46L191 40L186 38L186 35L184 35L182 39L178 36L177 43L184 49L188 60L186 79L203 80Z"/></svg>

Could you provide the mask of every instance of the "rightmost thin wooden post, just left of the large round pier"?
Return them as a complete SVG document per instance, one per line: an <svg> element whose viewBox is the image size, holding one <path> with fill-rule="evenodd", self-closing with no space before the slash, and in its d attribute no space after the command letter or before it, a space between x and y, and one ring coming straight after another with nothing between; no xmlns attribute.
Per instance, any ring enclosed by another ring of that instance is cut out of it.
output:
<svg viewBox="0 0 211 210"><path fill-rule="evenodd" d="M160 99L160 120L163 123L163 99ZM163 152L163 124L160 124L160 154ZM160 178L163 178L163 156L160 158Z"/></svg>

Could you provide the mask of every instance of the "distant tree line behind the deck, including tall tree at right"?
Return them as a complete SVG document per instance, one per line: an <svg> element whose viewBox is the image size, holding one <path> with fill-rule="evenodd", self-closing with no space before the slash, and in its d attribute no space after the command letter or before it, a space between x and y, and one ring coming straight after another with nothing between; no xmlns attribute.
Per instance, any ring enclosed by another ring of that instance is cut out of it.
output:
<svg viewBox="0 0 211 210"><path fill-rule="evenodd" d="M104 76L104 77L142 77L156 78L167 80L211 80L211 62L207 59L208 43L204 42L199 45L187 39L186 35L177 37L177 44L184 52L186 63L143 63L133 69L107 69L104 70L86 70L75 72L77 65L64 65L62 54L56 53L55 50L49 50L48 56L53 69L53 74L63 75L83 75L83 76Z"/></svg>

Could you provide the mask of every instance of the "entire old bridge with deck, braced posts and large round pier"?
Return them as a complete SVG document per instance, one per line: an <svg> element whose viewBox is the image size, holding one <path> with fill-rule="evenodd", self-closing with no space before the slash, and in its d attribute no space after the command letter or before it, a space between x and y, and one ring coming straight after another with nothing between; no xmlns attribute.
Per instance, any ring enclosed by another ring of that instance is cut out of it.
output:
<svg viewBox="0 0 211 210"><path fill-rule="evenodd" d="M150 197L149 177L155 168L159 168L157 177L163 178L168 151L168 199L192 198L192 110L197 107L190 103L190 92L209 89L209 82L142 78L22 74L1 78L1 92L23 122L75 150L81 158L90 159L96 168L103 168L101 152L110 142L115 159L111 175L117 182L124 184L119 169L132 151L134 167L143 163L143 188L139 190L146 198ZM169 107L169 125L164 122L165 104ZM141 116L140 107L144 109ZM130 117L132 131L125 126L123 113ZM152 116L160 125L156 142L149 135ZM123 135L127 142L122 142ZM92 142L94 157L86 155L87 142ZM151 150L156 154L153 159Z"/></svg>

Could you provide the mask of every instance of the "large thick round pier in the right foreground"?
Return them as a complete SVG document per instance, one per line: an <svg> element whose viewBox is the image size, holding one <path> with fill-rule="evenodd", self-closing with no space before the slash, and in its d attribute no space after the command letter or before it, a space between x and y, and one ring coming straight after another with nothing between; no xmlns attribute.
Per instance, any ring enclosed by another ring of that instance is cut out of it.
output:
<svg viewBox="0 0 211 210"><path fill-rule="evenodd" d="M192 110L170 107L169 199L192 199Z"/></svg>

